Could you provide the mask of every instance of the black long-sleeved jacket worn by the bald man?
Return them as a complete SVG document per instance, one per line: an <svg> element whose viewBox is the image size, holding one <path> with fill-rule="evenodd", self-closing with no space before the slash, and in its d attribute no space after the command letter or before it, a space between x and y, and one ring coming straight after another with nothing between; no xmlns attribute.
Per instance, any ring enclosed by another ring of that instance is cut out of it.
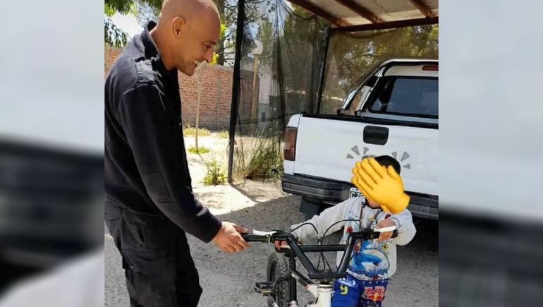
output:
<svg viewBox="0 0 543 307"><path fill-rule="evenodd" d="M181 125L178 72L167 71L150 22L116 59L105 84L106 205L166 216L202 241L221 222L194 197Z"/></svg>

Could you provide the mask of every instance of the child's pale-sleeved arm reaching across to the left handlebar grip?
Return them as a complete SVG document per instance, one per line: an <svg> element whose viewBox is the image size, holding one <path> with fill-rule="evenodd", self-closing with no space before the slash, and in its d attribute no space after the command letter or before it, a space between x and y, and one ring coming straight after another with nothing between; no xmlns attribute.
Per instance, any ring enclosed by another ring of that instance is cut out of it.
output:
<svg viewBox="0 0 543 307"><path fill-rule="evenodd" d="M305 223L310 222L314 224L317 228L317 231L319 231L319 234L322 236L324 234L324 231L326 231L331 224L341 221L341 219L345 219L346 208L355 201L360 201L360 198L349 198L348 200L338 203L337 205L329 207L327 208L327 210L321 212L320 215L315 215L311 219L305 221ZM301 224L303 223L294 224L291 226L291 229L295 229L295 227L298 227ZM335 224L328 230L327 235L338 231L339 229L341 229L341 227L343 227L344 224L345 222ZM299 241L303 241L309 238L315 238L317 236L317 234L315 234L315 229L311 225L307 224L296 229L292 233Z"/></svg>

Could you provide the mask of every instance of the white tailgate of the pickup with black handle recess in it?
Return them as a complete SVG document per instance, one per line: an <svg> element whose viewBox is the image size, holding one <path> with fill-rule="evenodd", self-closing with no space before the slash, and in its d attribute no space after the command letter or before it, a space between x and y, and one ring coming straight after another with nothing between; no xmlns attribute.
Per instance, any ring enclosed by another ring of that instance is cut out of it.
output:
<svg viewBox="0 0 543 307"><path fill-rule="evenodd" d="M386 143L366 143L366 127L388 129ZM405 191L438 195L438 134L435 128L367 124L355 118L302 116L294 173L350 182L351 169L363 156L391 155L402 166Z"/></svg>

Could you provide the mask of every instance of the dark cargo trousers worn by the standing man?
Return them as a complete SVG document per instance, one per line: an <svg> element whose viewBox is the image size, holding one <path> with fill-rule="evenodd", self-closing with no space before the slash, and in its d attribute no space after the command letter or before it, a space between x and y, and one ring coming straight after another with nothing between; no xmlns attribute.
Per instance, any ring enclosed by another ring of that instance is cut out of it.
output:
<svg viewBox="0 0 543 307"><path fill-rule="evenodd" d="M202 294L185 232L167 217L106 203L106 226L123 258L130 306L197 306Z"/></svg>

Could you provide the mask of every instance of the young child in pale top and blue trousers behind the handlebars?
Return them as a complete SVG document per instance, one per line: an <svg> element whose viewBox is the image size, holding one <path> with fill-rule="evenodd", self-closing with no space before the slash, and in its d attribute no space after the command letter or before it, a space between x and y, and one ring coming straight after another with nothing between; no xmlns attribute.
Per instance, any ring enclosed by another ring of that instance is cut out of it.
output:
<svg viewBox="0 0 543 307"><path fill-rule="evenodd" d="M391 165L396 173L400 174L400 164L393 157L380 156L375 159L384 167ZM393 231L388 231L383 232L377 240L358 240L348 265L347 277L334 282L332 307L381 306L389 277L396 272L396 245L405 245L415 236L416 230L411 213L405 209L392 215L384 212L378 203L360 196L338 203L307 222L314 224L322 235L331 224L342 219L354 219L354 221L335 224L327 232L331 234L344 227L340 244L346 243L348 234L352 231L391 226L396 226L398 229L396 238L391 238ZM292 225L291 229L300 224ZM315 229L310 225L296 229L293 234L298 241L316 236ZM279 244L276 242L277 247L280 246ZM339 265L342 257L343 253L338 253L336 265Z"/></svg>

